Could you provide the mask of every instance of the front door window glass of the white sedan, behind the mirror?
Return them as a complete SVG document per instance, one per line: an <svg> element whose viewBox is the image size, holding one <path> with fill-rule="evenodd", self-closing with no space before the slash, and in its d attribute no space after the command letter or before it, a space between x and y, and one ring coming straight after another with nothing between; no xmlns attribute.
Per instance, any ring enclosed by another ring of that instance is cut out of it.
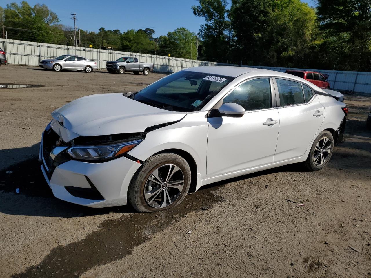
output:
<svg viewBox="0 0 371 278"><path fill-rule="evenodd" d="M246 111L272 107L269 78L246 81L229 93L223 103L234 102Z"/></svg>

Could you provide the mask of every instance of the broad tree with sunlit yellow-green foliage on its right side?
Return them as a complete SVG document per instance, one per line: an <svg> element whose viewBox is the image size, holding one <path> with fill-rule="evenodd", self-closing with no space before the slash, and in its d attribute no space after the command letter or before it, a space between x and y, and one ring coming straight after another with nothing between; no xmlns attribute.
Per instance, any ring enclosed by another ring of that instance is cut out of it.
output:
<svg viewBox="0 0 371 278"><path fill-rule="evenodd" d="M232 0L235 60L303 66L316 41L315 12L300 0Z"/></svg>

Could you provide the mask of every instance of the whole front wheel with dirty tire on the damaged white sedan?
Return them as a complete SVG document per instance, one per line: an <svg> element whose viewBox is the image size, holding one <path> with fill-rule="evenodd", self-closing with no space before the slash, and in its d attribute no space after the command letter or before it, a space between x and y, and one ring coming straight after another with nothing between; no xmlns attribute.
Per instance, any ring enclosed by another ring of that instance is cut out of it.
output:
<svg viewBox="0 0 371 278"><path fill-rule="evenodd" d="M175 153L148 158L132 178L128 199L138 212L155 212L180 204L191 185L187 161Z"/></svg>

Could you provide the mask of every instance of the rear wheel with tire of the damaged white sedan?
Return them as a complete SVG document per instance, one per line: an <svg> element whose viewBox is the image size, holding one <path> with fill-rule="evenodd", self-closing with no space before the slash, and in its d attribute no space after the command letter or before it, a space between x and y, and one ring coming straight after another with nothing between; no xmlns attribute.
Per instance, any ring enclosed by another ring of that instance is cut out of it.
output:
<svg viewBox="0 0 371 278"><path fill-rule="evenodd" d="M314 140L305 166L309 171L318 171L329 162L334 150L334 137L331 132L324 130Z"/></svg>

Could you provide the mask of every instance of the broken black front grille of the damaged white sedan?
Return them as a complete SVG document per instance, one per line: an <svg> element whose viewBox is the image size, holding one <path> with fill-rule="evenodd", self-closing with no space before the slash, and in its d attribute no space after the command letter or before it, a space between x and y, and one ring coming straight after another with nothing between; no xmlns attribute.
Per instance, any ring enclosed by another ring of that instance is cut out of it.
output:
<svg viewBox="0 0 371 278"><path fill-rule="evenodd" d="M61 163L64 163L68 160L68 155L65 155L63 153L60 153L53 162L53 159L50 157L50 152L52 152L53 149L57 146L57 142L59 140L59 135L55 133L53 129L45 130L43 135L43 146L42 146L42 155L45 162L45 166L48 168L47 175L49 178L52 176L52 173L56 166L58 166ZM61 142L58 146L68 146L67 143Z"/></svg>

